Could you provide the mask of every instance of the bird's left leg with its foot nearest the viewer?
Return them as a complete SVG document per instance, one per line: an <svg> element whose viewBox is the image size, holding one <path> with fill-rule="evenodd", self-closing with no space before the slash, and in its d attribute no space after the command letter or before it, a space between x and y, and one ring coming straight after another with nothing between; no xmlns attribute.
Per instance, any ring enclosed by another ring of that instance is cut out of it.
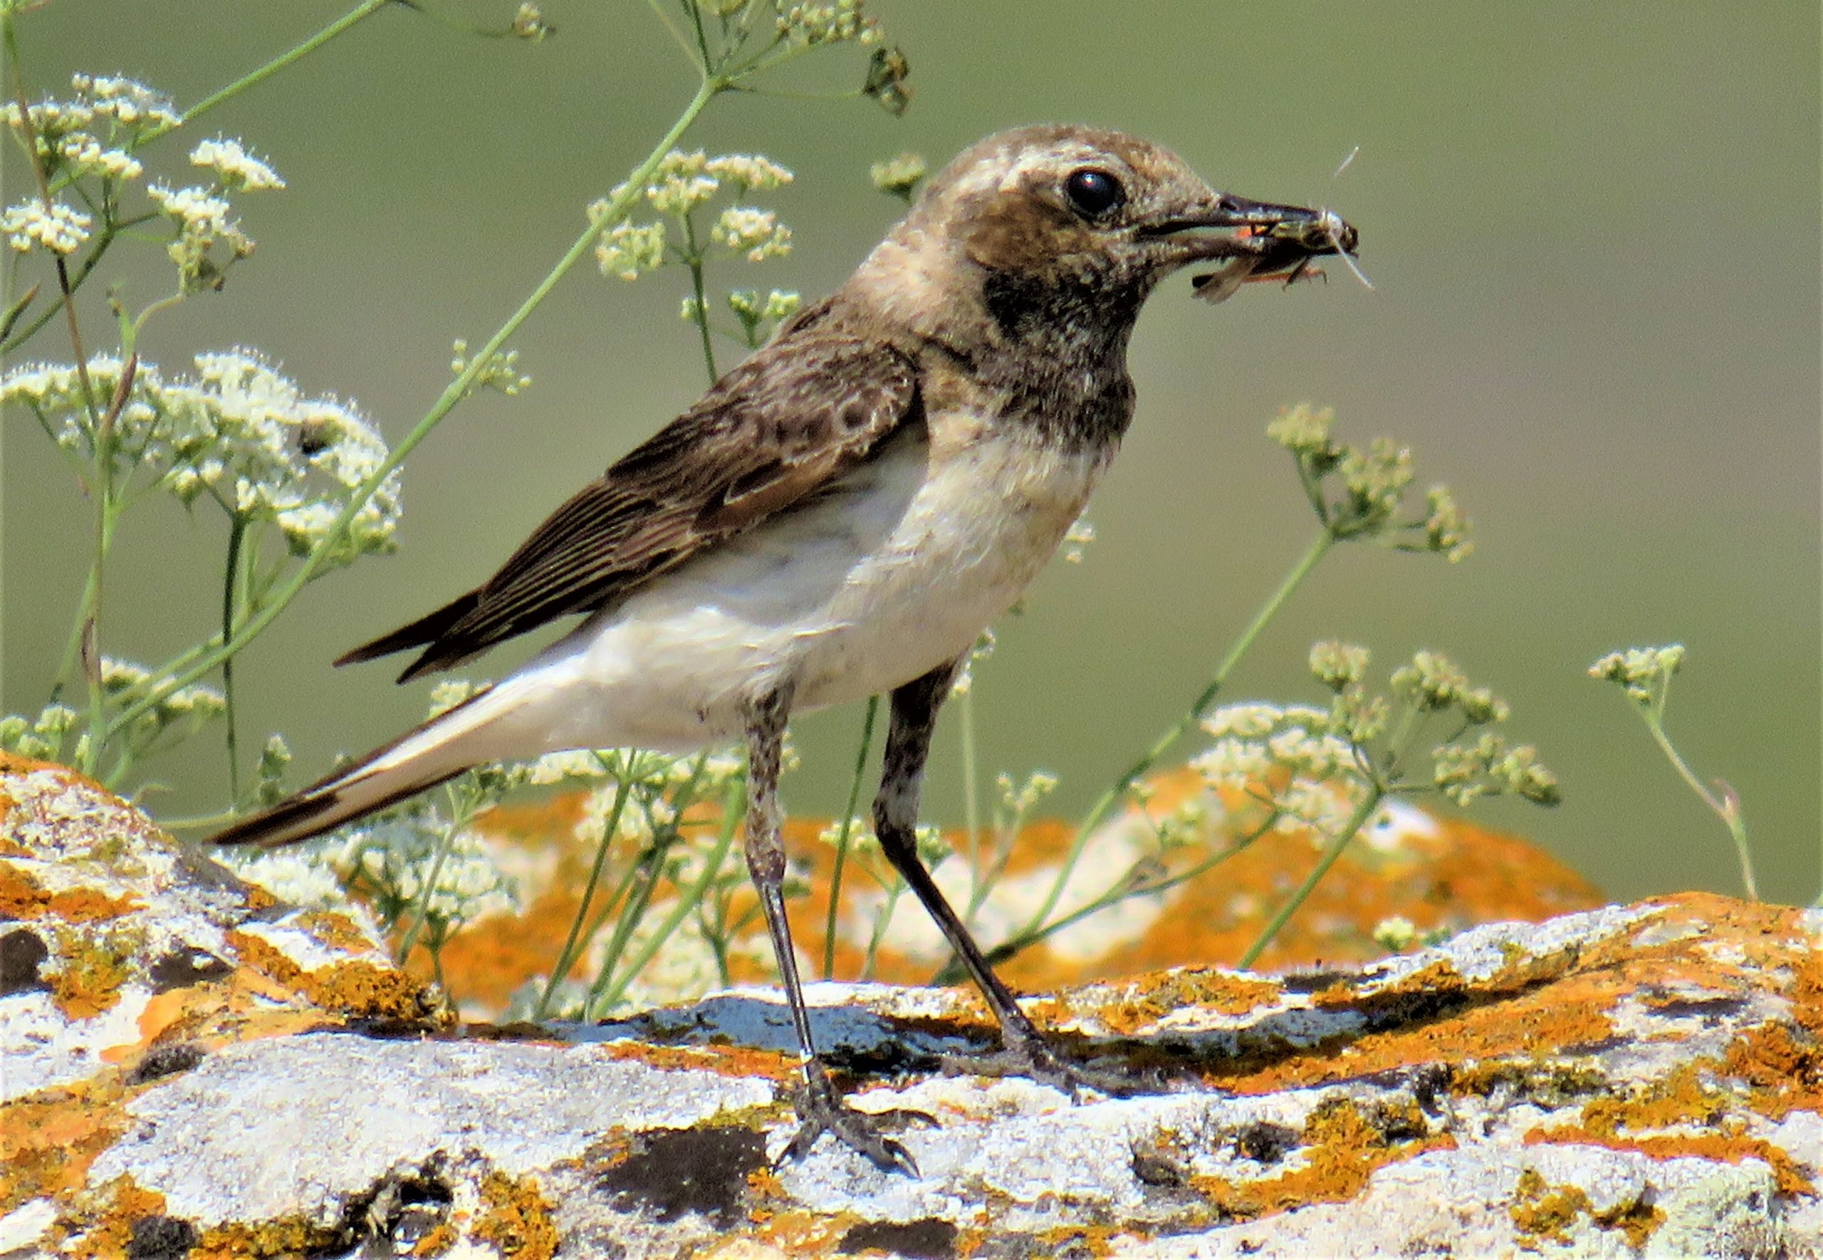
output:
<svg viewBox="0 0 1823 1260"><path fill-rule="evenodd" d="M798 1158L809 1152L824 1132L859 1151L881 1169L901 1169L917 1176L910 1152L891 1138L875 1131L875 1120L866 1116L837 1092L817 1045L809 1034L809 1010L804 1007L804 985L798 981L797 952L791 946L791 924L786 919L786 846L780 835L778 762L786 738L786 718L791 711L789 687L771 691L747 707L747 873L766 912L766 930L773 937L778 959L778 979L791 1005L791 1025L797 1028L798 1048L804 1052L804 1090L797 1101L802 1127L786 1154Z"/></svg>

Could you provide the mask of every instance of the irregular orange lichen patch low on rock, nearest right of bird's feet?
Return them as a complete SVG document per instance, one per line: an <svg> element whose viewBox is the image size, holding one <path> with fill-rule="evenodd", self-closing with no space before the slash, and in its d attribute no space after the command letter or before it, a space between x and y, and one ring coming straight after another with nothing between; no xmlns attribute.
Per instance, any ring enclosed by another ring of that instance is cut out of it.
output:
<svg viewBox="0 0 1823 1260"><path fill-rule="evenodd" d="M1362 1193L1373 1171L1424 1151L1455 1149L1455 1138L1400 1134L1424 1132L1416 1107L1407 1112L1369 1114L1347 1098L1327 1098L1303 1125L1300 1167L1260 1180L1192 1176L1210 1205L1225 1216L1252 1220L1307 1203L1345 1203Z"/></svg>

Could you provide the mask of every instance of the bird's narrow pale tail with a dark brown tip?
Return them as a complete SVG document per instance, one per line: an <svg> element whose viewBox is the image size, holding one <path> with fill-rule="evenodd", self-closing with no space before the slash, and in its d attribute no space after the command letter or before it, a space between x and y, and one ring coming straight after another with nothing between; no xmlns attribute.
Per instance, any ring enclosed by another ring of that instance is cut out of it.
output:
<svg viewBox="0 0 1823 1260"><path fill-rule="evenodd" d="M304 788L295 797L241 819L210 837L211 844L279 848L321 835L365 813L403 800L465 769L510 755L512 718L523 711L527 689L514 682L479 691L439 713L354 766Z"/></svg>

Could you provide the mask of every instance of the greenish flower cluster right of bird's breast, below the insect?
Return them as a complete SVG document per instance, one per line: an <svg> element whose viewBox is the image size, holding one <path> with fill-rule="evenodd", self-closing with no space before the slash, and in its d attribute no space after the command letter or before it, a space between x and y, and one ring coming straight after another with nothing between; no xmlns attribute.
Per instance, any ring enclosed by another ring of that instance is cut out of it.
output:
<svg viewBox="0 0 1823 1260"><path fill-rule="evenodd" d="M1333 538L1373 540L1396 551L1429 551L1451 562L1473 549L1469 520L1447 487L1426 494L1422 516L1406 516L1411 492L1411 449L1376 438L1365 449L1331 438L1336 414L1307 403L1280 410L1265 434L1291 450L1298 478Z"/></svg>

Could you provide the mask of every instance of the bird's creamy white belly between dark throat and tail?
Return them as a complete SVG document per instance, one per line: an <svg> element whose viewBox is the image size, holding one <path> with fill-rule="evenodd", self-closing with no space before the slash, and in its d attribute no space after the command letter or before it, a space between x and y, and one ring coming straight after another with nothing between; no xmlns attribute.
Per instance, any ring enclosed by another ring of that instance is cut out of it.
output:
<svg viewBox="0 0 1823 1260"><path fill-rule="evenodd" d="M518 678L547 748L687 751L793 707L890 691L966 651L1077 518L1107 454L988 436L933 469L922 429L819 501L662 574ZM527 715L530 717L530 715Z"/></svg>

